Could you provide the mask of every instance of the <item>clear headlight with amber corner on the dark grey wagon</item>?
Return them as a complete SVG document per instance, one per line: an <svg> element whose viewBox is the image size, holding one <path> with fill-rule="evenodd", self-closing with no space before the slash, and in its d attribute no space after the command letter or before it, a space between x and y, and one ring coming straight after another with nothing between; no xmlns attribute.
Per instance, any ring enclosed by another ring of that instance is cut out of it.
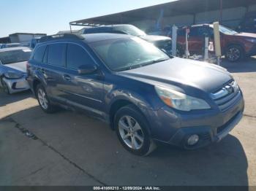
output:
<svg viewBox="0 0 256 191"><path fill-rule="evenodd" d="M167 106L173 107L175 109L189 112L195 109L211 109L206 101L200 98L194 98L192 96L186 95L184 93L171 90L166 87L155 87L159 98L167 104Z"/></svg>

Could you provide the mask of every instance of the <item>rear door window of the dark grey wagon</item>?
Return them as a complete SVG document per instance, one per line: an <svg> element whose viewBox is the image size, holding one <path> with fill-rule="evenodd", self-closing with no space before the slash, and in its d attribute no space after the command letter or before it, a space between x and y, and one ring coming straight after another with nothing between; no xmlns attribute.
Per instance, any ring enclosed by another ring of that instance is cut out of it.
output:
<svg viewBox="0 0 256 191"><path fill-rule="evenodd" d="M56 43L48 45L48 64L65 66L65 52L67 44Z"/></svg>

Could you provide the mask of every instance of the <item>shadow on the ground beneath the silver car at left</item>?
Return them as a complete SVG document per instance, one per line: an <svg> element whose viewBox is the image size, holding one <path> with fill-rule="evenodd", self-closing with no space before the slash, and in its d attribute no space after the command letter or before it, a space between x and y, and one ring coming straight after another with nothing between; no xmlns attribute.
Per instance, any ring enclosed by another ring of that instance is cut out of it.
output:
<svg viewBox="0 0 256 191"><path fill-rule="evenodd" d="M4 93L4 90L2 90L0 88L0 107L5 106L7 104L14 103L16 101L21 101L23 99L30 98L32 96L33 95L32 95L30 90L26 90L24 92L7 95L6 93Z"/></svg>

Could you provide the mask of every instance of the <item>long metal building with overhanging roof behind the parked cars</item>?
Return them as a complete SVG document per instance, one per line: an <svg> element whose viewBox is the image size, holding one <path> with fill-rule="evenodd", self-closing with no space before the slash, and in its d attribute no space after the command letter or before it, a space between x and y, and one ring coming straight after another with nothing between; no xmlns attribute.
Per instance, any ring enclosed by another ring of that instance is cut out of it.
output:
<svg viewBox="0 0 256 191"><path fill-rule="evenodd" d="M118 12L70 22L71 26L97 26L130 23L143 30L156 25L186 26L220 21L236 28L246 12L256 11L255 0L178 0L151 7Z"/></svg>

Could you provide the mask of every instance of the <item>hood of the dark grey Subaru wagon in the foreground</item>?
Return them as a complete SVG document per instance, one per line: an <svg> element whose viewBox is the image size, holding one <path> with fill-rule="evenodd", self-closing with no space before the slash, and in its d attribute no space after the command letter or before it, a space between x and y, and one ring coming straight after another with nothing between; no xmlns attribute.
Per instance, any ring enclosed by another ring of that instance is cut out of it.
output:
<svg viewBox="0 0 256 191"><path fill-rule="evenodd" d="M222 67L184 58L172 58L138 69L121 71L118 74L152 85L188 85L207 93L218 90L233 78Z"/></svg>

